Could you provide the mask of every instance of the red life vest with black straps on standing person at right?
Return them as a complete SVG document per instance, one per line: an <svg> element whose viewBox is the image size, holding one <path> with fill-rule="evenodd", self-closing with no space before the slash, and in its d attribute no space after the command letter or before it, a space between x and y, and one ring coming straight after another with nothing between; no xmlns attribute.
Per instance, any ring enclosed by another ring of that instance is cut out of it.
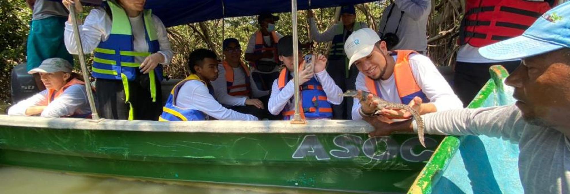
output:
<svg viewBox="0 0 570 194"><path fill-rule="evenodd" d="M520 36L540 15L548 2L524 0L468 0L459 32L459 44L483 47Z"/></svg>

